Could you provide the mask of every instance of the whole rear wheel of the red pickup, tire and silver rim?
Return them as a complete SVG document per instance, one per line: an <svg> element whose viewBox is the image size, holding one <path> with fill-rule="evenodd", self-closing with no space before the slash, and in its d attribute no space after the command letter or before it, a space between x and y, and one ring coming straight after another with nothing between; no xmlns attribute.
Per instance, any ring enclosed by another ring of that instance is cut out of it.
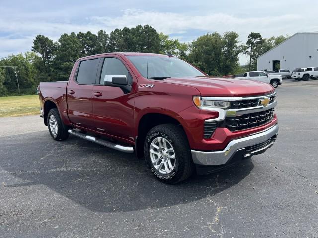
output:
<svg viewBox="0 0 318 238"><path fill-rule="evenodd" d="M66 140L69 137L68 127L63 124L57 108L52 108L49 111L47 122L53 139Z"/></svg>

